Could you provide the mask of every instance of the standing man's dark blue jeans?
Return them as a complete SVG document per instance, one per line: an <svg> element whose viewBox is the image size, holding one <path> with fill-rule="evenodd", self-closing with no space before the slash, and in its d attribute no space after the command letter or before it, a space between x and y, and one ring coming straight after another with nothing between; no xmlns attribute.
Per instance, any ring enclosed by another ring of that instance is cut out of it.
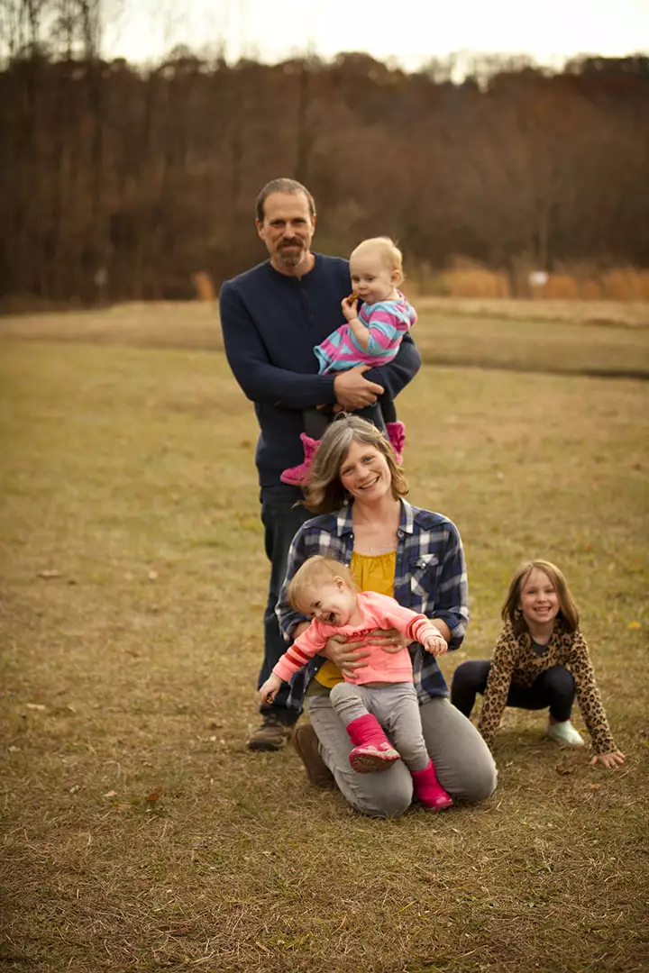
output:
<svg viewBox="0 0 649 973"><path fill-rule="evenodd" d="M262 523L265 528L264 543L270 560L270 586L269 600L264 612L264 665L259 673L258 689L269 678L272 667L288 647L279 631L275 605L286 577L286 562L291 541L298 528L309 517L313 517L313 514L299 503L302 499L303 492L298 486L286 484L263 486L260 493ZM288 683L283 682L273 702L262 703L260 712L264 715L272 714L282 723L295 723L300 713L297 709L287 707L288 693Z"/></svg>

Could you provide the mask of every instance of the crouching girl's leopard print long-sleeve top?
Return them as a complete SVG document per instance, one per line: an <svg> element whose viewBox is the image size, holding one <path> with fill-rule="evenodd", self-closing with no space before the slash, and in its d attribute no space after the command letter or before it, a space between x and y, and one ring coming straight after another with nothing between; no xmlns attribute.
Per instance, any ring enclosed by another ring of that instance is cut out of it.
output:
<svg viewBox="0 0 649 973"><path fill-rule="evenodd" d="M617 747L611 735L606 713L595 682L593 663L581 631L564 631L558 622L542 656L534 655L527 632L515 635L509 622L500 632L491 668L478 729L491 746L507 703L510 683L528 688L536 677L552 666L563 666L572 672L577 701L584 722L593 738L596 753L609 753Z"/></svg>

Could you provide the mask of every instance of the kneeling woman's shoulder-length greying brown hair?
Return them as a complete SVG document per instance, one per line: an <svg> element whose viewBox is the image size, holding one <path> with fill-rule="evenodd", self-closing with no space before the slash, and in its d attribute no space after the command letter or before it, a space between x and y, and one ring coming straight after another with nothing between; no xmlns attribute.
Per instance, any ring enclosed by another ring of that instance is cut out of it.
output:
<svg viewBox="0 0 649 973"><path fill-rule="evenodd" d="M340 510L348 497L341 483L341 466L352 443L374 446L385 457L395 500L408 493L408 481L397 466L394 452L382 432L366 419L342 413L325 431L304 486L305 506L314 514Z"/></svg>

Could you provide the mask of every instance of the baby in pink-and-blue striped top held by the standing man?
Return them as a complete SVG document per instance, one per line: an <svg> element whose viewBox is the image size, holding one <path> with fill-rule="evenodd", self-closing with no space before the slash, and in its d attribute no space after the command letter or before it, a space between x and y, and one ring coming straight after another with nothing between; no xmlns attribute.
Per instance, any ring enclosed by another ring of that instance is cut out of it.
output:
<svg viewBox="0 0 649 973"><path fill-rule="evenodd" d="M313 348L319 362L319 375L345 372L357 365L368 368L386 365L395 357L404 335L416 322L415 308L397 289L404 279L403 255L389 236L374 236L359 243L349 257L349 275L353 291L342 302L346 323ZM405 427L397 420L393 401L382 395L376 405L355 414L374 422L381 430L384 428L400 463ZM324 431L328 417L321 415L321 421ZM282 483L301 486L308 478L319 440L305 432L302 442L305 461L284 470L280 477Z"/></svg>

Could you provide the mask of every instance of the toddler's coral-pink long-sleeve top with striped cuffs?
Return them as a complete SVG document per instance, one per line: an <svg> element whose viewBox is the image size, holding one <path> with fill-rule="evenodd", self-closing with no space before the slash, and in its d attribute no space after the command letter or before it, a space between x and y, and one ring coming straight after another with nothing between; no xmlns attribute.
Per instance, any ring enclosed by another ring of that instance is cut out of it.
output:
<svg viewBox="0 0 649 973"><path fill-rule="evenodd" d="M361 592L358 607L363 617L360 625L337 627L313 619L308 629L296 638L272 669L273 674L288 681L299 668L306 666L317 652L324 649L332 635L345 635L348 641L357 642L376 629L397 629L412 642L421 643L428 635L439 635L425 615L417 615L387 595ZM364 660L367 666L356 669L353 677L345 675L345 682L363 685L368 682L413 681L413 663L407 647L396 653L384 652L377 645L367 645L365 648L370 652Z"/></svg>

